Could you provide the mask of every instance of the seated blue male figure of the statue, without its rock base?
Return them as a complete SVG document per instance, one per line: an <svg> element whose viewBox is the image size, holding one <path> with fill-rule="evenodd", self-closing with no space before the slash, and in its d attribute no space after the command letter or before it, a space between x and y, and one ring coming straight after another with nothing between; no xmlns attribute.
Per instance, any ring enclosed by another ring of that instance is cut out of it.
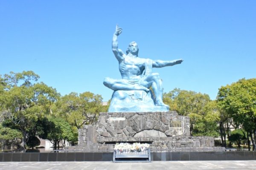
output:
<svg viewBox="0 0 256 170"><path fill-rule="evenodd" d="M155 105L165 106L163 103L163 85L158 73L151 73L152 67L161 68L183 62L182 59L172 61L151 60L138 57L139 47L136 42L131 42L126 54L118 48L117 37L122 33L122 28L116 26L113 35L112 51L119 62L119 71L122 79L105 78L104 85L114 91L117 90L143 90L149 92L152 87L155 96Z"/></svg>

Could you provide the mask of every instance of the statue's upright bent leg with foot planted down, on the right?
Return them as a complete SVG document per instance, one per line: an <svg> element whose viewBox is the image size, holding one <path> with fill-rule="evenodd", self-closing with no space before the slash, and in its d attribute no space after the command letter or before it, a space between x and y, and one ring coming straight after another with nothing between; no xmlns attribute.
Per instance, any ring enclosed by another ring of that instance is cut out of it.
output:
<svg viewBox="0 0 256 170"><path fill-rule="evenodd" d="M156 105L169 108L168 105L163 103L163 83L158 73L152 73L145 76L142 85L147 88L152 87L155 95Z"/></svg>

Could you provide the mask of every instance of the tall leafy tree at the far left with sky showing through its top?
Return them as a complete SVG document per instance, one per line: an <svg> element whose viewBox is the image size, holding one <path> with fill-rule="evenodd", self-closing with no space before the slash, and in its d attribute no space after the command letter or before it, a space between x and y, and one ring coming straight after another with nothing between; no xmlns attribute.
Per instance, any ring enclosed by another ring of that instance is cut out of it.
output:
<svg viewBox="0 0 256 170"><path fill-rule="evenodd" d="M60 96L54 88L37 83L38 78L32 71L5 75L3 125L21 131L23 148L29 136L36 135L38 120L50 114L53 103Z"/></svg>

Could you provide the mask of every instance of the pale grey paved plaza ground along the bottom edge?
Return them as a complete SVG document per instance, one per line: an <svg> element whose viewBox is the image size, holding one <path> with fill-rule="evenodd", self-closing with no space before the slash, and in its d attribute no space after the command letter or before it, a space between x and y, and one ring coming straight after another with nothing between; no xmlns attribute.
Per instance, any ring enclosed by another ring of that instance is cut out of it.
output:
<svg viewBox="0 0 256 170"><path fill-rule="evenodd" d="M0 170L256 170L256 161L0 162Z"/></svg>

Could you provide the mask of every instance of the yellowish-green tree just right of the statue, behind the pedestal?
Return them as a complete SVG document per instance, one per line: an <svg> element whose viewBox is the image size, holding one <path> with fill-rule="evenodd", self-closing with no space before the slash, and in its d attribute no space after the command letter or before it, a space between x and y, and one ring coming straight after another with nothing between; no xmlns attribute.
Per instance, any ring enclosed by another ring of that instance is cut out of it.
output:
<svg viewBox="0 0 256 170"><path fill-rule="evenodd" d="M163 95L163 101L171 110L189 116L190 134L218 136L218 109L209 95L175 88Z"/></svg>

